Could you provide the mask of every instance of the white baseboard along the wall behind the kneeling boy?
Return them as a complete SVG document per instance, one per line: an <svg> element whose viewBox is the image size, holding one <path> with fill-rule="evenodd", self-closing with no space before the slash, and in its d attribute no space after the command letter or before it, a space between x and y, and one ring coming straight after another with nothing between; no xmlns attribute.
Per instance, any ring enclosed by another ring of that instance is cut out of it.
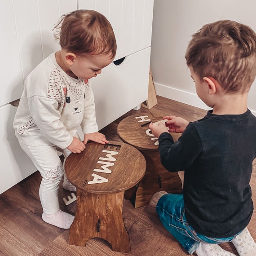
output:
<svg viewBox="0 0 256 256"><path fill-rule="evenodd" d="M177 88L169 87L163 84L154 83L156 94L177 102L182 102L190 106L195 106L201 109L210 110L195 93L186 92ZM251 110L253 115L256 115L256 110Z"/></svg>

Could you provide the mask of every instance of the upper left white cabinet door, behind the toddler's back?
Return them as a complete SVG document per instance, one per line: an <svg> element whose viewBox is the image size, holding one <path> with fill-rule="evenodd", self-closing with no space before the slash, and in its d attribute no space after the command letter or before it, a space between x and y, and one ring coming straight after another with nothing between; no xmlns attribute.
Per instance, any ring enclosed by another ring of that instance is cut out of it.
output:
<svg viewBox="0 0 256 256"><path fill-rule="evenodd" d="M26 76L45 57L59 49L53 38L53 25L59 17L77 9L76 0L1 1L0 106L20 98Z"/></svg>

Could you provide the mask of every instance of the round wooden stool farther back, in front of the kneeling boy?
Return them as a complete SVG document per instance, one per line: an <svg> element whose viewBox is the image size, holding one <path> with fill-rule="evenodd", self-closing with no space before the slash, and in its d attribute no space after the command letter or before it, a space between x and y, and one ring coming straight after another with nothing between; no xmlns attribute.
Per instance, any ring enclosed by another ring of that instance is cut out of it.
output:
<svg viewBox="0 0 256 256"><path fill-rule="evenodd" d="M147 205L151 196L157 191L168 193L181 192L181 180L177 172L168 172L160 162L158 139L149 129L150 122L162 120L161 116L149 114L131 115L123 119L117 132L122 141L136 147L146 159L146 174L137 187L125 192L125 198L130 199L135 208ZM171 133L177 141L180 133Z"/></svg>

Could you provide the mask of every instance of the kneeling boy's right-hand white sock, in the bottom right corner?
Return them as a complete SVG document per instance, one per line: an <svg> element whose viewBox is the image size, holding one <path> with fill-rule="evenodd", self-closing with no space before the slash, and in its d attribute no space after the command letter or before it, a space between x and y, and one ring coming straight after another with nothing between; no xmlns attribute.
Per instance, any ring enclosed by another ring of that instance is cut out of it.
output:
<svg viewBox="0 0 256 256"><path fill-rule="evenodd" d="M256 255L256 243L247 228L245 228L242 233L238 234L232 240L232 243L234 244L239 256Z"/></svg>

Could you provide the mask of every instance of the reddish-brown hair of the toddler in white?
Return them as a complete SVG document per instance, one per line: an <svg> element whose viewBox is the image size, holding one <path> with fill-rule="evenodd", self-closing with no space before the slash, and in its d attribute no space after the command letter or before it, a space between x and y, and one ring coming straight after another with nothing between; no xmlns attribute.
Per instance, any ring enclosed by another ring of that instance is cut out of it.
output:
<svg viewBox="0 0 256 256"><path fill-rule="evenodd" d="M115 34L104 15L93 10L76 10L62 15L54 37L62 49L79 56L111 54L115 57Z"/></svg>

